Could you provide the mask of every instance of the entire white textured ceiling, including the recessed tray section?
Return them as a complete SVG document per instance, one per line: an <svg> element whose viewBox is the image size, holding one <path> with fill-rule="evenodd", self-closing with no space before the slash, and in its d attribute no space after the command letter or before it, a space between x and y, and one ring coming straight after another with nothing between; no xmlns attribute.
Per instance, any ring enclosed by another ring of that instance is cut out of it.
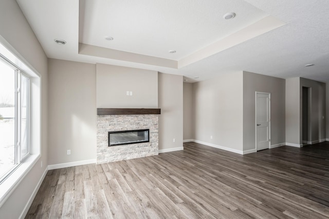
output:
<svg viewBox="0 0 329 219"><path fill-rule="evenodd" d="M157 70L188 82L241 70L329 81L327 0L17 3L49 58ZM224 20L227 12L234 19Z"/></svg>

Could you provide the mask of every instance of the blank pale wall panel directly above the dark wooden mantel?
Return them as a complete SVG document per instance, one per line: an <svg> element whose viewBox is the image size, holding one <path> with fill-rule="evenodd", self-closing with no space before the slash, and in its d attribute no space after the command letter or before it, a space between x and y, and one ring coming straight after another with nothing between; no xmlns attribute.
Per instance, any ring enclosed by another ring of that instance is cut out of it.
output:
<svg viewBox="0 0 329 219"><path fill-rule="evenodd" d="M96 69L97 108L158 107L157 71L105 64L96 64Z"/></svg>

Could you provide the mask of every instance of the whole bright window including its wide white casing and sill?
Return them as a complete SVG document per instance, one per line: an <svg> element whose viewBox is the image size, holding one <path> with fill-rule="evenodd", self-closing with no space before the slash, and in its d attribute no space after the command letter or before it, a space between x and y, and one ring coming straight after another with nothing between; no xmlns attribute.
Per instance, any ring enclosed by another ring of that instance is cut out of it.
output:
<svg viewBox="0 0 329 219"><path fill-rule="evenodd" d="M0 35L0 208L37 162L47 170L41 160L41 85L38 70Z"/></svg>

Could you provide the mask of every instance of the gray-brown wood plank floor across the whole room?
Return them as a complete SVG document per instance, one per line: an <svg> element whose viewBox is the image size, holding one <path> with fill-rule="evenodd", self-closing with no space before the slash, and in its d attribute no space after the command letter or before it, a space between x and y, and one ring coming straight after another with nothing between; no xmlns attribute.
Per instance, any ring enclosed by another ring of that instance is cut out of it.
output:
<svg viewBox="0 0 329 219"><path fill-rule="evenodd" d="M26 218L328 218L329 142L184 151L50 170Z"/></svg>

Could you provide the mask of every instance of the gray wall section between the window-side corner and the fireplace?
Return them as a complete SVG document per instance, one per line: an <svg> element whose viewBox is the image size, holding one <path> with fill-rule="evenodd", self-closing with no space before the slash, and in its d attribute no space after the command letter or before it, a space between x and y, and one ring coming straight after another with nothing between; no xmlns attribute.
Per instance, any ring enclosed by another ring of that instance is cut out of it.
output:
<svg viewBox="0 0 329 219"><path fill-rule="evenodd" d="M96 65L49 59L48 74L49 165L95 159Z"/></svg>

